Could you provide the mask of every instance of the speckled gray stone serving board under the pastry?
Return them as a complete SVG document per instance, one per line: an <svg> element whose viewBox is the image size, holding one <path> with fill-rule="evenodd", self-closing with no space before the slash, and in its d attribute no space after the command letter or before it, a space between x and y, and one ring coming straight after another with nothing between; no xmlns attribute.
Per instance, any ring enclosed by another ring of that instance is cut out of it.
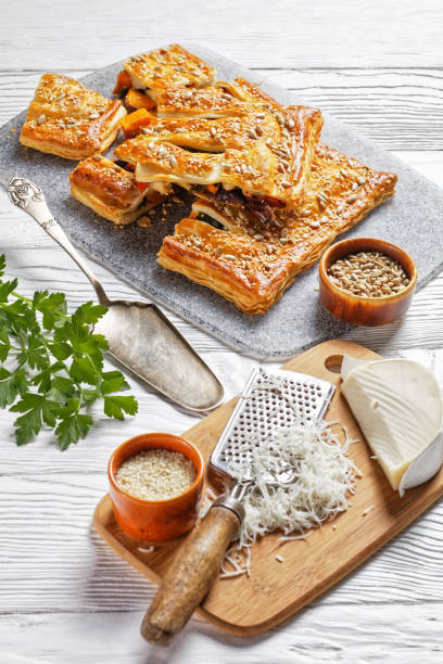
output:
<svg viewBox="0 0 443 664"><path fill-rule="evenodd" d="M260 79L253 72L218 53L194 44L187 46L217 68L219 79L232 80L243 76L260 84L282 103L301 101L280 86ZM115 63L85 76L81 81L111 97L119 68L121 63ZM189 201L169 207L165 221L160 215L154 217L150 228L132 224L116 230L111 222L71 197L67 176L75 166L74 162L21 146L18 133L24 119L25 113L21 113L0 129L0 176L7 180L14 176L35 180L42 187L50 209L74 243L150 299L229 346L263 359L292 357L349 329L321 307L316 291L317 266L300 274L282 298L263 316L242 314L220 295L163 269L156 264L155 255L163 237L174 231L175 224L189 209ZM16 132L11 132L11 128ZM346 235L375 237L400 244L416 261L417 286L422 286L443 268L443 191L347 125L326 114L321 140L368 166L398 175L394 197L375 209Z"/></svg>

